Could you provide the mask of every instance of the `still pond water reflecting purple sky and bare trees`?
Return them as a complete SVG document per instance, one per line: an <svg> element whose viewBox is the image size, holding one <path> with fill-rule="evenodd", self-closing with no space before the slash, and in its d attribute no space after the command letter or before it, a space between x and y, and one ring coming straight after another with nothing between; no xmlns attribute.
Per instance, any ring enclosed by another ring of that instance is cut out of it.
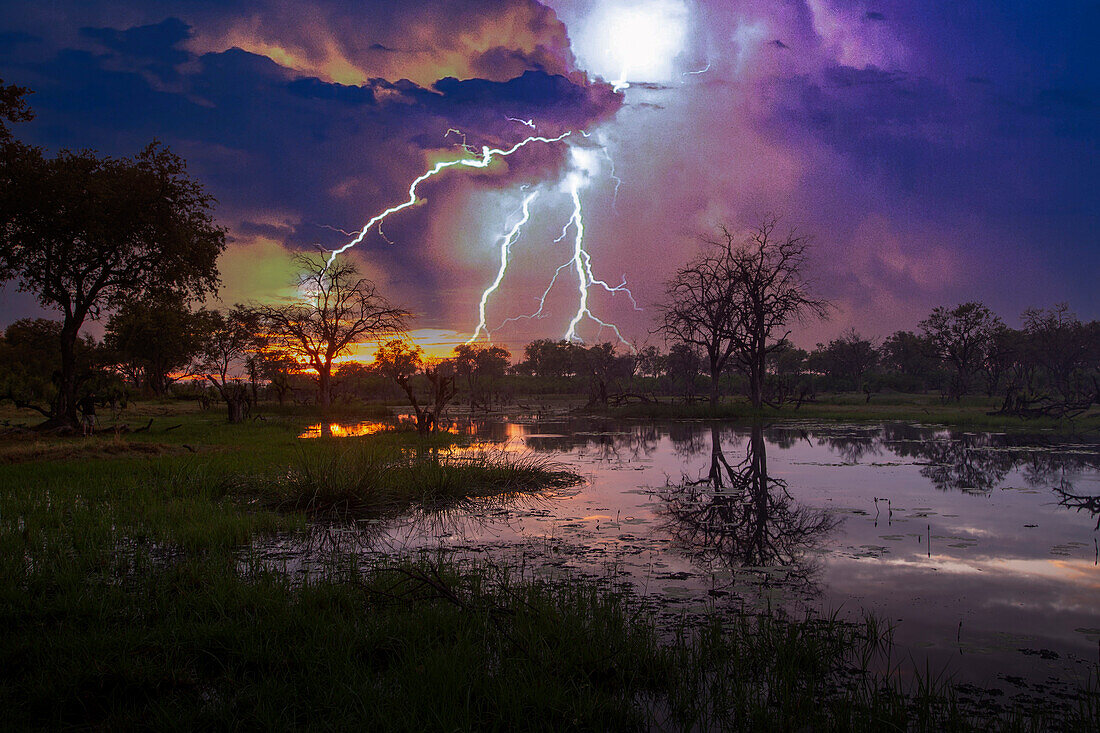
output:
<svg viewBox="0 0 1100 733"><path fill-rule="evenodd" d="M667 613L867 610L897 623L903 659L1010 693L1057 694L1100 661L1098 442L900 424L460 428L466 450L549 453L585 483L387 523L371 551L610 576Z"/></svg>

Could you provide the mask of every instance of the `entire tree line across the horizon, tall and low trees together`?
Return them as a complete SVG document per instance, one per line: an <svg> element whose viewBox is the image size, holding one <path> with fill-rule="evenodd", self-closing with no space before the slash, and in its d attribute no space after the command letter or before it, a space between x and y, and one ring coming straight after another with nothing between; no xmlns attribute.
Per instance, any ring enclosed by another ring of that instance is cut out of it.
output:
<svg viewBox="0 0 1100 733"><path fill-rule="evenodd" d="M261 400L307 391L322 407L349 395L404 397L433 430L460 392L471 408L556 392L607 405L661 395L712 404L744 394L756 407L818 392L983 392L1001 412L1072 415L1100 402L1100 324L1066 305L1030 309L1009 328L980 303L939 307L877 341L849 329L811 351L794 325L832 308L807 278L812 241L765 219L744 239L728 228L666 284L652 336L663 348L537 340L512 364L498 346L427 359L407 338L411 314L344 260L296 256L296 296L277 304L202 304L220 285L226 231L213 198L154 141L133 157L47 155L8 124L33 117L28 89L0 81L0 282L33 294L59 320L24 319L0 339L0 398L75 427L81 397L216 394L231 422ZM105 319L96 341L81 328ZM380 344L371 364L348 361ZM205 385L200 387L199 385Z"/></svg>

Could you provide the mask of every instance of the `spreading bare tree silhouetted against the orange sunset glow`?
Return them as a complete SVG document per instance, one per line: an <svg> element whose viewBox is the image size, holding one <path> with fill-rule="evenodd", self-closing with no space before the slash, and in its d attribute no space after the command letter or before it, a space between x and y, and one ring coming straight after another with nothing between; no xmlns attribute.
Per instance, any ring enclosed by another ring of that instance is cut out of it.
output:
<svg viewBox="0 0 1100 733"><path fill-rule="evenodd" d="M309 364L322 407L332 402L332 363L358 341L377 340L405 330L409 313L378 295L374 283L359 276L345 260L327 264L321 255L299 254L299 297L278 306L260 306L276 348Z"/></svg>

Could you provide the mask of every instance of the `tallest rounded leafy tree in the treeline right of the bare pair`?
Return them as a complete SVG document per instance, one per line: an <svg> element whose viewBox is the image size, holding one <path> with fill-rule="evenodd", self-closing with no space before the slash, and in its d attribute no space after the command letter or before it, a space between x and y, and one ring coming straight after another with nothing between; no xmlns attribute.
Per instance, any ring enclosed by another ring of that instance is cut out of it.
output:
<svg viewBox="0 0 1100 733"><path fill-rule="evenodd" d="M954 371L950 394L959 400L969 391L1001 319L980 303L963 303L948 310L935 308L920 322L921 329L943 362Z"/></svg>

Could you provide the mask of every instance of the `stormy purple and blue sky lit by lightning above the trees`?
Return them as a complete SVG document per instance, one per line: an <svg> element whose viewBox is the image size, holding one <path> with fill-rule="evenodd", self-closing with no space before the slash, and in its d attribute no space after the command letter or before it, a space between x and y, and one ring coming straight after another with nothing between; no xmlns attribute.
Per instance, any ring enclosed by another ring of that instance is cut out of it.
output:
<svg viewBox="0 0 1100 733"><path fill-rule="evenodd" d="M424 184L352 250L418 328L469 338L538 193L488 325L514 347L561 337L569 269L544 317L497 327L570 260L574 230L554 240L576 185L594 275L640 307L595 287L592 311L628 339L654 339L700 234L776 214L814 236L837 305L796 332L812 347L970 299L1012 325L1063 300L1100 317L1098 30L1080 1L43 0L0 10L0 77L35 91L23 140L130 155L157 138L187 158L229 228L226 303L286 296L287 252L407 198L462 152L448 130L505 147L531 120L574 132ZM8 285L0 315L36 311Z"/></svg>

